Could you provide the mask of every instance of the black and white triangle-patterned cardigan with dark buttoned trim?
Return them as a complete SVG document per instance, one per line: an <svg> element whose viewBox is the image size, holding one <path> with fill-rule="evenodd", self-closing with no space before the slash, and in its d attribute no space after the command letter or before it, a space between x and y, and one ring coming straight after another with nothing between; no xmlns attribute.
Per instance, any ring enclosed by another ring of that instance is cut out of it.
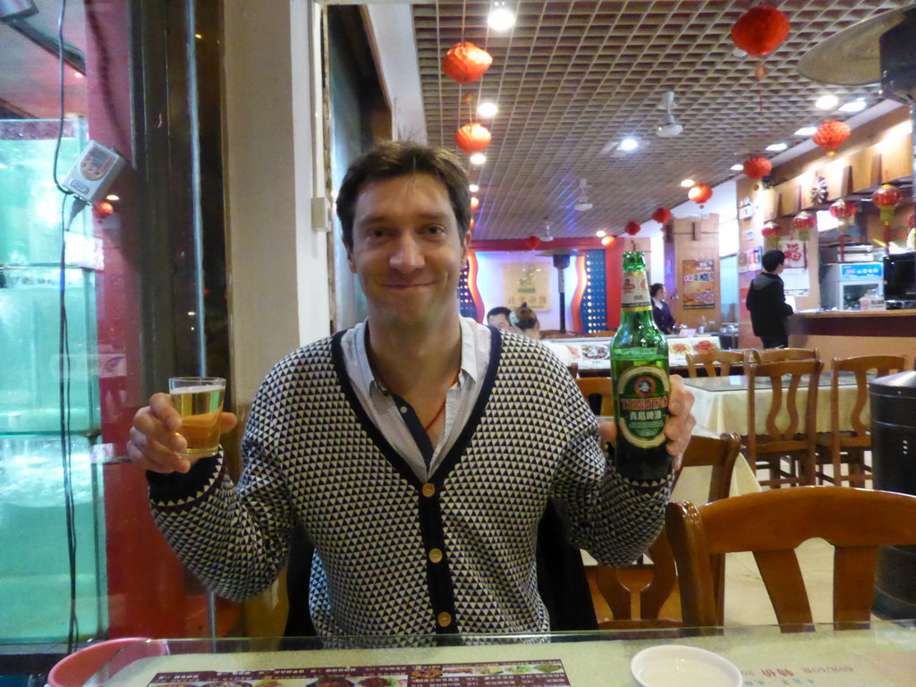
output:
<svg viewBox="0 0 916 687"><path fill-rule="evenodd" d="M471 418L428 482L366 416L338 333L267 376L238 485L219 457L147 474L159 529L213 592L241 600L274 582L301 525L320 634L546 631L535 541L548 499L573 544L620 565L658 535L671 478L627 483L566 368L536 342L492 335Z"/></svg>

